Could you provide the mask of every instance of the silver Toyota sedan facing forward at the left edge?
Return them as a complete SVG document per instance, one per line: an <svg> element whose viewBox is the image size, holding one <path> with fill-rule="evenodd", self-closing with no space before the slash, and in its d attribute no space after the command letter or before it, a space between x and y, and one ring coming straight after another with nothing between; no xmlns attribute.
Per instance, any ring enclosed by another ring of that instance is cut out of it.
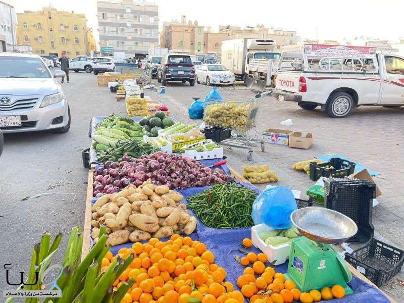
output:
<svg viewBox="0 0 404 303"><path fill-rule="evenodd" d="M4 133L52 129L67 132L70 109L55 78L38 55L0 53L0 129Z"/></svg>

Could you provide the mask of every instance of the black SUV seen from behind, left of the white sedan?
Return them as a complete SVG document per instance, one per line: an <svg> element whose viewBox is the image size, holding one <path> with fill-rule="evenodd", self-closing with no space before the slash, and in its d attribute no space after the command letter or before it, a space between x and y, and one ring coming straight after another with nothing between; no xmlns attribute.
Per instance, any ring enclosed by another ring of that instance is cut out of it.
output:
<svg viewBox="0 0 404 303"><path fill-rule="evenodd" d="M195 70L189 55L168 54L157 68L157 81L166 85L167 81L189 82L195 85Z"/></svg>

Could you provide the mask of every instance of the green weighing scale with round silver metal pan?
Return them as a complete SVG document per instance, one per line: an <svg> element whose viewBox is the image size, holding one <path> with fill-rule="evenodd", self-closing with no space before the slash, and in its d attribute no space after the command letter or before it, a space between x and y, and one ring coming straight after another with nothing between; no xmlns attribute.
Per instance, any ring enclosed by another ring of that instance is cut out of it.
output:
<svg viewBox="0 0 404 303"><path fill-rule="evenodd" d="M307 207L295 210L290 219L303 237L292 240L287 279L301 292L335 284L354 291L346 284L352 280L342 257L329 244L344 242L354 236L358 227L347 216L333 210Z"/></svg>

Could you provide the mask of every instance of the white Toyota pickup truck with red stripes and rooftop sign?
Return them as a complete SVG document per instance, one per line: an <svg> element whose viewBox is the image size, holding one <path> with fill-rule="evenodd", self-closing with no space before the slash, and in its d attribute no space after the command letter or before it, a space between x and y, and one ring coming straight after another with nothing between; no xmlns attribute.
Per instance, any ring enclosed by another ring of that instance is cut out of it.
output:
<svg viewBox="0 0 404 303"><path fill-rule="evenodd" d="M393 49L304 44L285 46L272 93L332 118L363 105L404 106L404 58Z"/></svg>

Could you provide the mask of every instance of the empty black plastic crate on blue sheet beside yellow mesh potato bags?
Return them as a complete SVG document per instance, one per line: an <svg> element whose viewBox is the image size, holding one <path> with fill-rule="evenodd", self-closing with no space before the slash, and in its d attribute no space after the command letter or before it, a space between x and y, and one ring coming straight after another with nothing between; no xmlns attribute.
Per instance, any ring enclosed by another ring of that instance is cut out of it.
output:
<svg viewBox="0 0 404 303"><path fill-rule="evenodd" d="M331 158L324 163L310 162L310 179L317 181L320 177L344 177L353 174L354 170L355 162L341 158Z"/></svg>

